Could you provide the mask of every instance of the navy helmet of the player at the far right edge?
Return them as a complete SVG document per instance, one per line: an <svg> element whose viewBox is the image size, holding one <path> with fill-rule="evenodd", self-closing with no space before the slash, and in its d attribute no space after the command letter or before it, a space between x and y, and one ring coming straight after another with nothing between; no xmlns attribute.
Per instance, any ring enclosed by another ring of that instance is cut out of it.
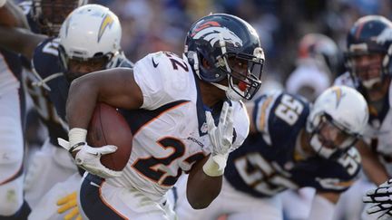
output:
<svg viewBox="0 0 392 220"><path fill-rule="evenodd" d="M351 27L347 38L345 64L351 77L363 89L377 91L381 82L392 75L392 23L381 15L367 15L358 19ZM362 59L379 56L377 63ZM362 60L358 67L358 61ZM377 75L374 73L377 71ZM363 78L363 79L362 79ZM380 83L377 83L380 82Z"/></svg>

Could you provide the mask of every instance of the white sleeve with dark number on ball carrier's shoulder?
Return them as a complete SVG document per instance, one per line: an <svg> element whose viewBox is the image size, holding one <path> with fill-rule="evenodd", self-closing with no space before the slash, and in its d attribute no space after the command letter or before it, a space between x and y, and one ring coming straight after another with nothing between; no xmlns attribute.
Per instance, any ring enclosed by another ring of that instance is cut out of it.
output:
<svg viewBox="0 0 392 220"><path fill-rule="evenodd" d="M150 53L133 67L133 75L139 85L142 109L155 110L171 101L189 100L191 67L172 53Z"/></svg>

